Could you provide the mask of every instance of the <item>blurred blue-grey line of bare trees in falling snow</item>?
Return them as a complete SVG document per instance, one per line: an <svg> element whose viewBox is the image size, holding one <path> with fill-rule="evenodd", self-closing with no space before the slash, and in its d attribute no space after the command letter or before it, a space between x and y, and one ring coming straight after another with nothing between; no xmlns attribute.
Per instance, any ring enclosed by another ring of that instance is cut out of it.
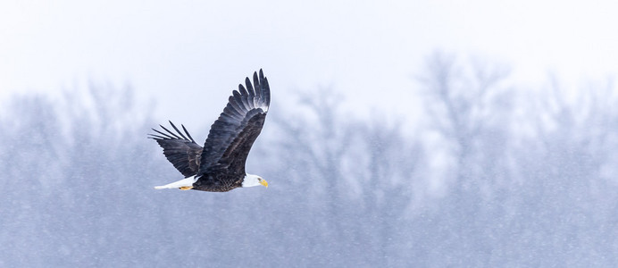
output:
<svg viewBox="0 0 618 268"><path fill-rule="evenodd" d="M618 263L613 85L520 88L503 66L445 54L425 67L402 88L423 100L416 130L305 91L249 156L272 187L225 194L152 189L180 173L130 88L14 96L0 108L0 266Z"/></svg>

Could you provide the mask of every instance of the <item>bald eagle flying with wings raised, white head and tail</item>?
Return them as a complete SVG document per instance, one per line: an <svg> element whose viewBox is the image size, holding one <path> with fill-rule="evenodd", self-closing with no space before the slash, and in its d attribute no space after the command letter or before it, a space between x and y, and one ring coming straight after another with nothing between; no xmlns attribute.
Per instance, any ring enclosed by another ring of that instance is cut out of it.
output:
<svg viewBox="0 0 618 268"><path fill-rule="evenodd" d="M171 121L176 132L162 125L159 126L163 130L153 129L156 134L149 134L148 138L163 147L163 155L185 176L154 188L227 192L240 187L268 187L262 177L245 172L245 162L262 131L271 104L271 89L262 70L259 77L254 72L253 85L248 77L245 85L246 88L239 84L238 90L232 92L228 105L211 126L204 147L196 144L184 125L180 125L184 134Z"/></svg>

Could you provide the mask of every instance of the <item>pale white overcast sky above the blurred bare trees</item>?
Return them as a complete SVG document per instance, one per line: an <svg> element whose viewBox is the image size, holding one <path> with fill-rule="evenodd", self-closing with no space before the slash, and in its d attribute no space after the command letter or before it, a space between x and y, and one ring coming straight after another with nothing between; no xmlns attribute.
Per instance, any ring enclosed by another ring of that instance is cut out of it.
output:
<svg viewBox="0 0 618 268"><path fill-rule="evenodd" d="M155 120L195 124L186 114L203 109L209 125L263 68L273 102L330 86L348 109L414 113L412 77L436 49L510 64L522 82L618 73L615 3L4 0L0 97L129 83Z"/></svg>

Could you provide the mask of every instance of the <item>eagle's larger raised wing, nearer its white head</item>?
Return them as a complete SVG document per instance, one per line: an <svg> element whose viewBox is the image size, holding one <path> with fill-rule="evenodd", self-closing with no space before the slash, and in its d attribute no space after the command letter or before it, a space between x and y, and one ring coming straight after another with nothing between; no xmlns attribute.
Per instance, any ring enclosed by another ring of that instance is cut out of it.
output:
<svg viewBox="0 0 618 268"><path fill-rule="evenodd" d="M253 82L252 85L246 78L246 88L238 85L238 91L234 90L223 113L214 121L206 138L198 175L222 168L244 176L246 156L262 131L271 104L271 89L262 70L259 77L254 72Z"/></svg>

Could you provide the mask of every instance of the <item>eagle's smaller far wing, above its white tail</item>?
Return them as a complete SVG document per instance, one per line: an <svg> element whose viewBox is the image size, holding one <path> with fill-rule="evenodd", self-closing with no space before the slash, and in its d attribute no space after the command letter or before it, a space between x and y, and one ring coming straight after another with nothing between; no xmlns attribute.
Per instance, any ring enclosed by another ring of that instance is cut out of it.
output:
<svg viewBox="0 0 618 268"><path fill-rule="evenodd" d="M149 134L150 137L148 138L153 138L159 146L163 147L163 155L185 178L191 177L199 169L202 147L196 144L196 141L188 134L185 126L180 125L182 130L185 130L187 136L183 135L171 121L170 124L176 130L176 133L159 125L167 133L153 129L158 134Z"/></svg>

